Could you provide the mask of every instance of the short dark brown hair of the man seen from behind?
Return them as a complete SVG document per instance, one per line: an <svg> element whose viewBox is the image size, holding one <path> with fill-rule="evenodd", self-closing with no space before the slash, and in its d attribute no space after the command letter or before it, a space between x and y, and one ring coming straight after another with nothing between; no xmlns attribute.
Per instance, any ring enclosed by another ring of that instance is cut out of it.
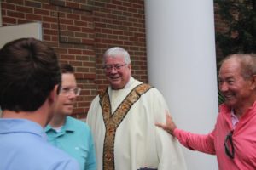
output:
<svg viewBox="0 0 256 170"><path fill-rule="evenodd" d="M0 50L0 77L2 110L36 111L60 84L61 70L52 48L21 38Z"/></svg>

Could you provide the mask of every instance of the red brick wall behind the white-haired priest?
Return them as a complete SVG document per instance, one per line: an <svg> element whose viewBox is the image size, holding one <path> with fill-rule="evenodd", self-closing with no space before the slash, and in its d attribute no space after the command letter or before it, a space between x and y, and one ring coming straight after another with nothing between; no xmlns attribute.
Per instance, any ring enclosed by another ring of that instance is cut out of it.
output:
<svg viewBox="0 0 256 170"><path fill-rule="evenodd" d="M143 0L2 0L3 26L43 24L43 39L61 63L75 68L83 88L73 116L84 118L91 100L108 82L102 54L120 46L131 54L132 74L148 82Z"/></svg>

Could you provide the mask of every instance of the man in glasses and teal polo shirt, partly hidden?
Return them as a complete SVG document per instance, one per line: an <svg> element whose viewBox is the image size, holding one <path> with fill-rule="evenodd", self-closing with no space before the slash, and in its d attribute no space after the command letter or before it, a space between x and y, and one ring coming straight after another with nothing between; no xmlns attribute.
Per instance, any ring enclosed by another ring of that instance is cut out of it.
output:
<svg viewBox="0 0 256 170"><path fill-rule="evenodd" d="M45 127L50 144L79 161L81 170L96 170L96 156L90 127L71 117L81 88L77 86L72 65L61 65L62 82L56 101L55 115Z"/></svg>

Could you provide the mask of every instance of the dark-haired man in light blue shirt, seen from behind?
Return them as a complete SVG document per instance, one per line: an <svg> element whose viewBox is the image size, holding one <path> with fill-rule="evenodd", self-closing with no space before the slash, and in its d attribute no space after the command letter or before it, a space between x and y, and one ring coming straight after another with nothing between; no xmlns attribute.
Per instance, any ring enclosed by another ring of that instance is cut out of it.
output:
<svg viewBox="0 0 256 170"><path fill-rule="evenodd" d="M44 133L61 83L54 50L34 38L9 42L0 50L0 77L0 169L79 169Z"/></svg>

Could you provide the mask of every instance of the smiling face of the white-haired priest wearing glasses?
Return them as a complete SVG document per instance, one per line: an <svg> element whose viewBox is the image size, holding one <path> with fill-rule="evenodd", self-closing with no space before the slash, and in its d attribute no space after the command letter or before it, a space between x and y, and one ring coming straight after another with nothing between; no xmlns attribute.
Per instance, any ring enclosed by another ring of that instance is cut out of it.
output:
<svg viewBox="0 0 256 170"><path fill-rule="evenodd" d="M130 80L131 64L126 64L125 58L121 55L106 57L104 69L108 82L113 89L124 88Z"/></svg>

